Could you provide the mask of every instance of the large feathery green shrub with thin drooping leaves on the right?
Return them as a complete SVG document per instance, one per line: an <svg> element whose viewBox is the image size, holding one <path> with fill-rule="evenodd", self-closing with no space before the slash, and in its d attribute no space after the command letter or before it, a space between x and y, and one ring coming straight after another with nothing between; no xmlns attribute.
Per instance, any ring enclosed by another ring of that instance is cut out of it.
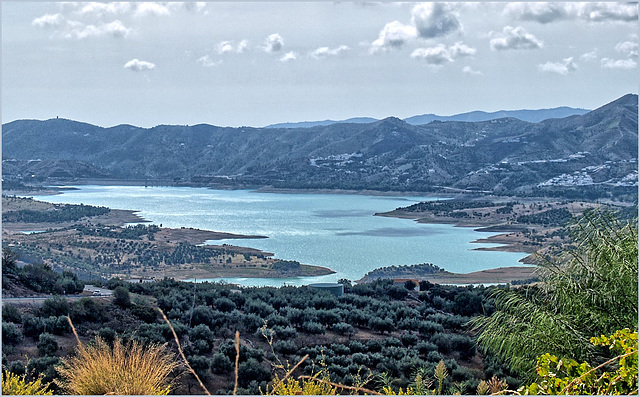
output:
<svg viewBox="0 0 640 397"><path fill-rule="evenodd" d="M588 211L571 233L575 248L541 264L538 287L495 289L496 312L472 321L480 347L520 373L544 353L594 362L591 335L637 327L637 222Z"/></svg>

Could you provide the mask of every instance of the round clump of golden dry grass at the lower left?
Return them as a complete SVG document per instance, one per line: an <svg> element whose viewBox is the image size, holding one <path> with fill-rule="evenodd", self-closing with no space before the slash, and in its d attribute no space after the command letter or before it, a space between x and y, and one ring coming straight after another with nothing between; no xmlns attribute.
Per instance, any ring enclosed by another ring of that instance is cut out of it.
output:
<svg viewBox="0 0 640 397"><path fill-rule="evenodd" d="M123 344L117 338L113 347L97 337L76 350L56 368L59 385L71 394L166 395L168 377L179 365L164 345Z"/></svg>

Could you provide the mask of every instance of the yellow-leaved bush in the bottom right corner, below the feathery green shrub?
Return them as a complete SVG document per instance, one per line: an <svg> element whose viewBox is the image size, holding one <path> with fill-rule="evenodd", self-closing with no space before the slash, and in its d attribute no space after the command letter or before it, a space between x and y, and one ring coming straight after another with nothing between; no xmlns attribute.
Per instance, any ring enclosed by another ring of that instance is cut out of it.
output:
<svg viewBox="0 0 640 397"><path fill-rule="evenodd" d="M637 394L638 333L629 329L611 336L591 338L594 346L608 347L616 355L592 367L571 358L558 358L546 353L538 357L539 380L518 390L521 394ZM612 365L614 366L612 368Z"/></svg>

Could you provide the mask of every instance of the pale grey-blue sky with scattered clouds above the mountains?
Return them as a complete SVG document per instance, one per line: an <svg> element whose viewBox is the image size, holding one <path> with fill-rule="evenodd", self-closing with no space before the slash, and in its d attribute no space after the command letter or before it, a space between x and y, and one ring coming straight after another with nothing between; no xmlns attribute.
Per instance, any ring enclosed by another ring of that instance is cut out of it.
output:
<svg viewBox="0 0 640 397"><path fill-rule="evenodd" d="M638 6L2 2L1 72L3 123L595 109L638 92Z"/></svg>

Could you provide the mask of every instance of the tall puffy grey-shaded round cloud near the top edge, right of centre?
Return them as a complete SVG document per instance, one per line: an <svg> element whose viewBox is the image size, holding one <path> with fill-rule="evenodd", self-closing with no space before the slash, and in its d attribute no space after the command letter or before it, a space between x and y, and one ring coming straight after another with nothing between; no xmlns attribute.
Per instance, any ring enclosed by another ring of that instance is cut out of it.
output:
<svg viewBox="0 0 640 397"><path fill-rule="evenodd" d="M460 29L458 18L448 3L422 3L411 10L411 21L420 37L431 39Z"/></svg>

